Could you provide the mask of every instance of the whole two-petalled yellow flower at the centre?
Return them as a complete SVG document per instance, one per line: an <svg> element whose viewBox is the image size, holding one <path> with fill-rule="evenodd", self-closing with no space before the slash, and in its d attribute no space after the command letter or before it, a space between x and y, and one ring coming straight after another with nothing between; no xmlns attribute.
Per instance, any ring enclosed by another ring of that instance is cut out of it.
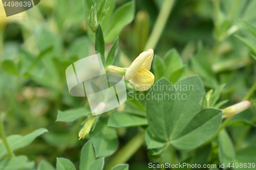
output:
<svg viewBox="0 0 256 170"><path fill-rule="evenodd" d="M152 49L141 53L125 72L125 79L138 91L146 91L154 84L155 76L149 71L153 57Z"/></svg>

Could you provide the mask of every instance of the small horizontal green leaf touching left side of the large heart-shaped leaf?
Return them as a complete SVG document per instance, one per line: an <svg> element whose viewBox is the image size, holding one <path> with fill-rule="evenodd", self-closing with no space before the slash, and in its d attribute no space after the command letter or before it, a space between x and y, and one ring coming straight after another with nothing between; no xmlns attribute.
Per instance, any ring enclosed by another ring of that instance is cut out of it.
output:
<svg viewBox="0 0 256 170"><path fill-rule="evenodd" d="M147 125L147 120L144 117L127 114L127 113L114 113L108 122L110 127L130 127L130 126L143 126Z"/></svg>

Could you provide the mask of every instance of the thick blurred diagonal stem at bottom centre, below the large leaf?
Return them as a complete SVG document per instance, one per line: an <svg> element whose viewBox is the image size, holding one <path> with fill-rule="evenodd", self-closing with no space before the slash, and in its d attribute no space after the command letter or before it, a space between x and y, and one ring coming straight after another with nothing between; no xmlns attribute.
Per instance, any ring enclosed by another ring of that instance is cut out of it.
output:
<svg viewBox="0 0 256 170"><path fill-rule="evenodd" d="M106 170L112 169L120 163L125 163L129 160L133 154L141 147L145 140L145 131L140 132L134 138L132 138L112 159Z"/></svg>

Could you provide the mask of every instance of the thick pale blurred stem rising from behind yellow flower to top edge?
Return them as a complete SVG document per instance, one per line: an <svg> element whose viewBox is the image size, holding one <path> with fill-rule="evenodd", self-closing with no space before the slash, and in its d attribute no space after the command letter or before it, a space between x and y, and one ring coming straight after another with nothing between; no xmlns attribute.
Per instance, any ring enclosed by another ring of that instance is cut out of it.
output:
<svg viewBox="0 0 256 170"><path fill-rule="evenodd" d="M148 50L149 48L153 48L154 50L154 48L156 47L156 44L166 25L170 11L172 11L174 2L175 0L164 0L161 10L159 12L159 15L157 17L156 23L154 25L153 31L145 45L144 51Z"/></svg>

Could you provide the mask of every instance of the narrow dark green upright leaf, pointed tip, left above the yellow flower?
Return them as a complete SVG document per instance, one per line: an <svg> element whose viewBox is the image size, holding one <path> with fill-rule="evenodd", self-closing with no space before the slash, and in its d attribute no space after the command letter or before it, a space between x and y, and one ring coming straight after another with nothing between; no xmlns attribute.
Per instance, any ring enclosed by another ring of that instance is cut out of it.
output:
<svg viewBox="0 0 256 170"><path fill-rule="evenodd" d="M100 24L98 25L96 34L95 34L95 51L99 52L102 62L105 63L105 43L103 38L103 32L101 30Z"/></svg>

